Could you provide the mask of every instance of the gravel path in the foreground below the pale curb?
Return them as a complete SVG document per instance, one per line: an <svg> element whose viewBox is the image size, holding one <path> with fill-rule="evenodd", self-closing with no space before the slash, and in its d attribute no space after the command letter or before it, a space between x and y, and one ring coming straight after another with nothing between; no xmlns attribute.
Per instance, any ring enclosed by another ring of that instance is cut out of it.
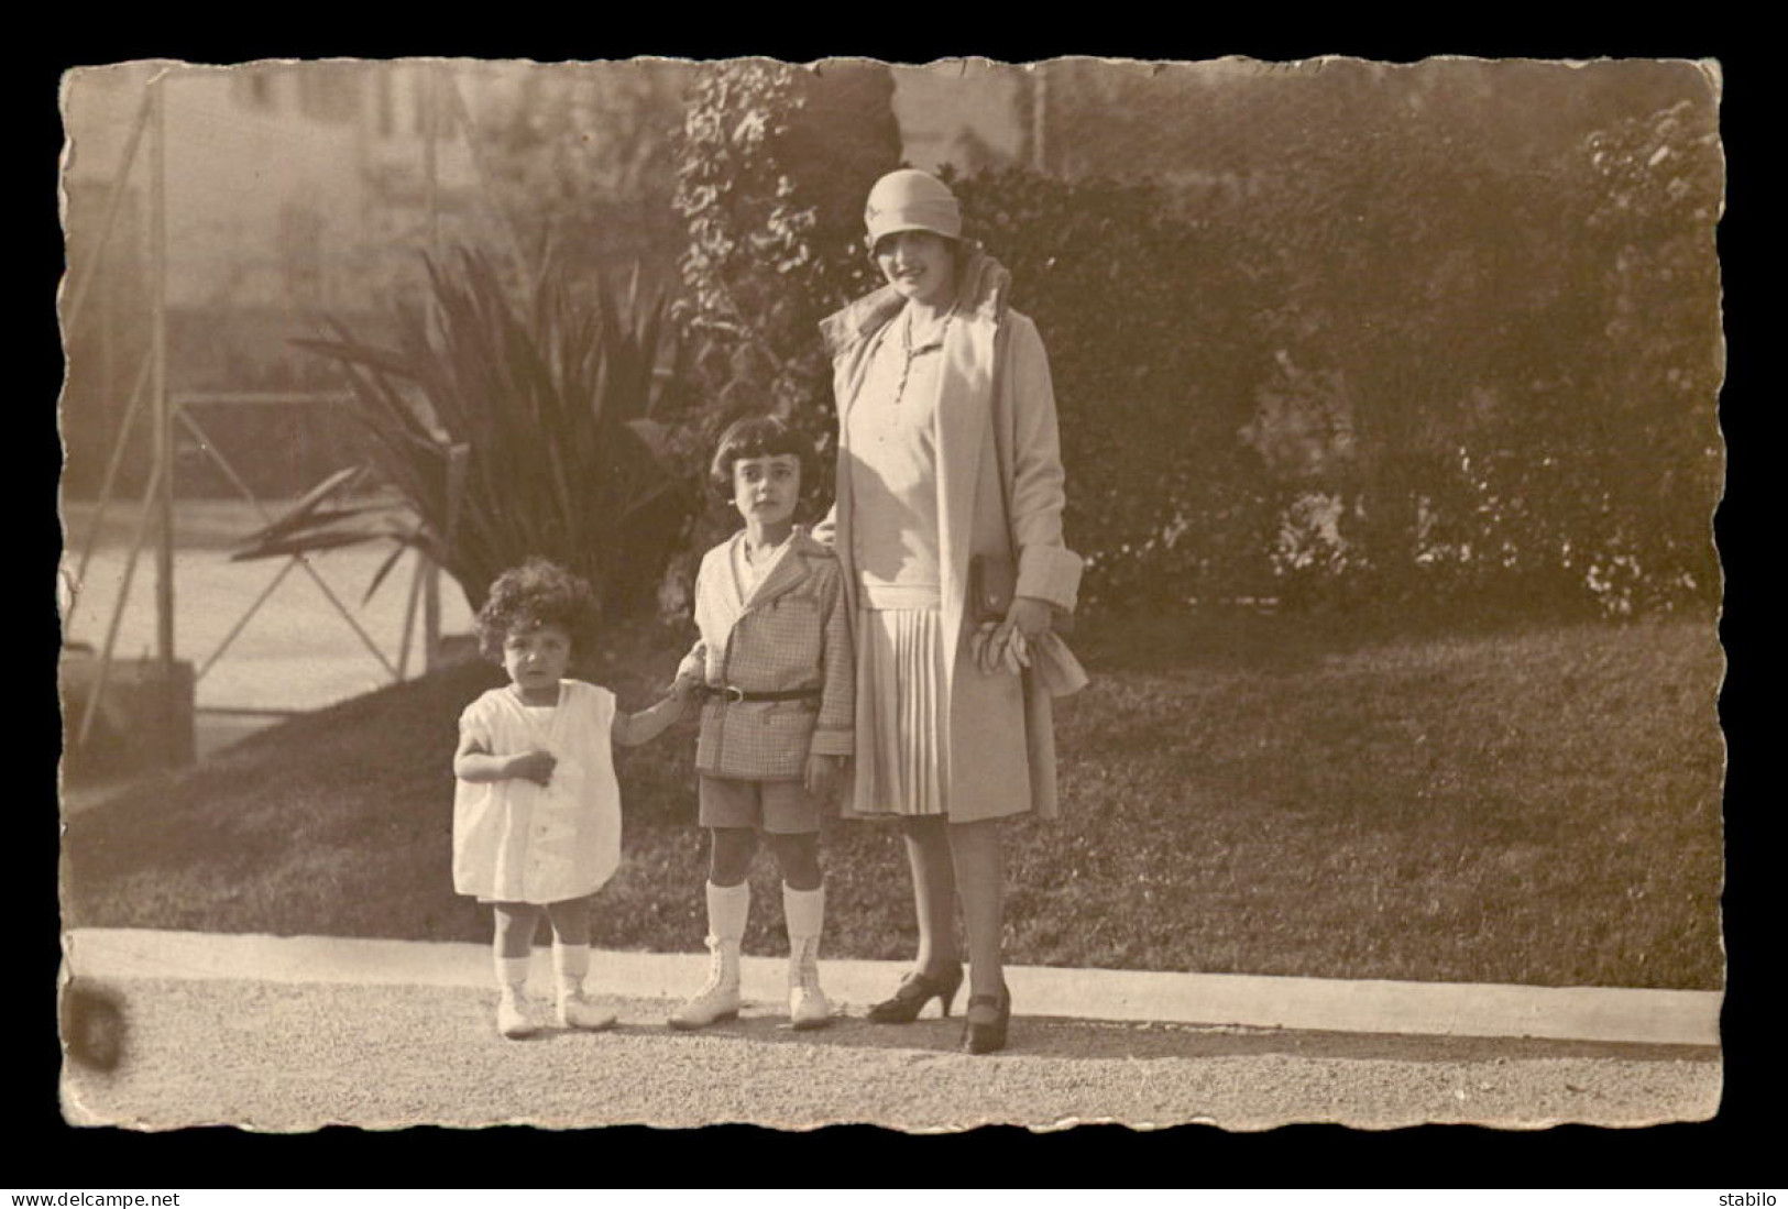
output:
<svg viewBox="0 0 1788 1209"><path fill-rule="evenodd" d="M495 1036L490 994L460 987L131 980L105 994L122 1028L86 1012L70 1036L118 1043L118 1061L68 1062L73 1123L1541 1127L1706 1120L1720 1098L1718 1053L1688 1046L1021 1018L1012 1050L974 1059L953 1052L955 1021L794 1034L771 1005L672 1034L667 1003L624 1000L613 1032L517 1043Z"/></svg>

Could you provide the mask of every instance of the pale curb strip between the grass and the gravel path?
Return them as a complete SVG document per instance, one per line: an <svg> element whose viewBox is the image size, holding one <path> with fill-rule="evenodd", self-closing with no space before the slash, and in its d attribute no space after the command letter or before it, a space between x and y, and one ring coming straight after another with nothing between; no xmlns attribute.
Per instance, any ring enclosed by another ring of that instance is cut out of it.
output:
<svg viewBox="0 0 1788 1209"><path fill-rule="evenodd" d="M64 973L80 978L243 978L277 984L488 987L490 948L431 941L243 935L150 928L63 934ZM681 1000L706 973L706 953L597 950L590 989L603 996ZM833 1002L867 1005L890 993L907 962L821 960ZM747 1000L787 994L787 964L746 957ZM549 950L535 950L533 984L551 985ZM1720 1044L1720 991L1534 987L1480 982L1389 982L1278 975L1010 966L1025 1016L1177 1025L1241 1025L1436 1037L1543 1037L1641 1044ZM958 1003L960 1010L960 1003Z"/></svg>

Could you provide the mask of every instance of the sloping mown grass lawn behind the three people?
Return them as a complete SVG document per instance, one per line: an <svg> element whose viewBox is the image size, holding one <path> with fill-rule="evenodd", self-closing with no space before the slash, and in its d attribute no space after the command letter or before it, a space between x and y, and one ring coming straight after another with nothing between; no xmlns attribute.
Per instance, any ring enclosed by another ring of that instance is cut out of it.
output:
<svg viewBox="0 0 1788 1209"><path fill-rule="evenodd" d="M1709 619L1377 633L1282 617L1125 619L1075 640L1064 819L1010 837L1023 964L1722 985L1722 653ZM674 635L590 674L645 703ZM443 669L263 731L68 821L73 926L479 941L452 894L458 712ZM626 860L597 943L699 950L690 728L620 753ZM826 953L907 957L887 824L828 823ZM767 866L767 857L763 858ZM760 867L747 951L781 951Z"/></svg>

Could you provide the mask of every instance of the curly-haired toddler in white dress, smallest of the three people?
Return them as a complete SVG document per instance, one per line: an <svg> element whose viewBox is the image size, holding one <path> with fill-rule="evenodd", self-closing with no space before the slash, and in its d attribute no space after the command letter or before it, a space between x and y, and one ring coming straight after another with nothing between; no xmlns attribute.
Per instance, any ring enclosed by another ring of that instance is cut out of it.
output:
<svg viewBox="0 0 1788 1209"><path fill-rule="evenodd" d="M511 1039L536 1030L526 984L542 914L552 925L558 1023L615 1023L583 987L594 894L620 864L611 744L649 742L683 714L676 696L622 714L613 692L569 678L594 633L590 585L544 558L497 576L477 610L479 649L510 683L460 715L452 875L454 891L492 907L497 1032Z"/></svg>

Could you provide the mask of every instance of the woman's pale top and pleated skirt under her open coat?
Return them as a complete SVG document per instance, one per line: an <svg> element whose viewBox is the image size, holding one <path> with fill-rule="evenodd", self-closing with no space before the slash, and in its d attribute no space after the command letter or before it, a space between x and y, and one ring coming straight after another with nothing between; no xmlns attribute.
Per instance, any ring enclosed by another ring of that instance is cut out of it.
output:
<svg viewBox="0 0 1788 1209"><path fill-rule="evenodd" d="M942 334L907 354L907 313L869 352L846 417L856 567L855 814L948 814L937 512Z"/></svg>

